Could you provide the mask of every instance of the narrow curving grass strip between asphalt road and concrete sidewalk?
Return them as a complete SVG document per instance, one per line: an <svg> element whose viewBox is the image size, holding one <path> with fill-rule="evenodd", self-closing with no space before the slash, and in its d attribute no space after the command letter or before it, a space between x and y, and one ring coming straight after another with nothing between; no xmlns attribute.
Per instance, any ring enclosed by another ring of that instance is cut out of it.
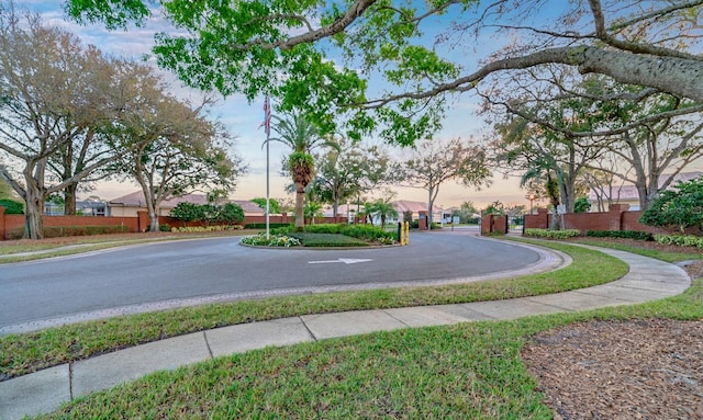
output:
<svg viewBox="0 0 703 420"><path fill-rule="evenodd" d="M0 376L12 377L91 355L210 328L355 309L444 305L542 295L602 284L627 272L615 258L562 243L569 266L542 274L442 287L408 287L286 296L115 317L0 337Z"/></svg>

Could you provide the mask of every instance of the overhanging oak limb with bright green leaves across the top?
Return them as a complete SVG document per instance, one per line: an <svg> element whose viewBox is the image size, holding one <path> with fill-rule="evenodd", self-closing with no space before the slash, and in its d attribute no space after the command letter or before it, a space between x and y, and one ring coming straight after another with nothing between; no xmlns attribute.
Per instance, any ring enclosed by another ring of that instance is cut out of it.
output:
<svg viewBox="0 0 703 420"><path fill-rule="evenodd" d="M178 30L156 36L159 66L204 90L303 106L325 133L345 115L350 138L380 129L412 144L436 130L451 93L545 65L703 101L702 0L67 0L66 11L119 29L155 3Z"/></svg>

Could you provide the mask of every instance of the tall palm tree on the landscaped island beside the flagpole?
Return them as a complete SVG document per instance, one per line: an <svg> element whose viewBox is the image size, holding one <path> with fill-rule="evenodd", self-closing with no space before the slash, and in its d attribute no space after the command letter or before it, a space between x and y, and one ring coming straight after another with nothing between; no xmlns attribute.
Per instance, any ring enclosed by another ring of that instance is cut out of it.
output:
<svg viewBox="0 0 703 420"><path fill-rule="evenodd" d="M274 118L272 128L278 133L278 137L272 137L267 141L279 141L291 149L288 157L288 170L295 184L295 230L303 230L305 186L312 182L315 172L311 151L319 146L327 146L338 150L339 146L333 139L320 135L317 127L303 115L292 113L286 120L276 116Z"/></svg>

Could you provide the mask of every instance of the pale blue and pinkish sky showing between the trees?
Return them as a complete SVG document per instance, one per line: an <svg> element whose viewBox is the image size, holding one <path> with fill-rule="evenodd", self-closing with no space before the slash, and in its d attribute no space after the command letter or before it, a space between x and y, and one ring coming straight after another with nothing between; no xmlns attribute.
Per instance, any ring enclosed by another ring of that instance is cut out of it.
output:
<svg viewBox="0 0 703 420"><path fill-rule="evenodd" d="M86 44L96 45L103 53L124 58L138 59L145 54L150 54L154 44L153 35L156 32L172 31L168 23L159 15L153 16L147 25L141 29L132 27L127 31L108 32L102 25L81 26L65 20L62 2L53 0L26 0L19 1L18 5L37 11L43 15L47 24L63 26L78 35ZM152 60L153 61L153 60ZM192 98L198 92L182 87L170 73L165 73L168 80L172 80L174 93ZM239 178L236 190L231 194L231 198L250 200L266 196L266 151L261 147L266 139L265 133L259 128L264 118L264 99L259 98L253 103L248 103L243 95L234 94L228 98L221 98L219 104L214 106L212 116L222 122L228 132L236 137L233 151L243 157L248 164L247 173ZM486 132L486 126L481 117L475 114L478 102L475 98L464 94L456 102L450 104L447 116L444 121L443 129L435 138L470 138L478 137ZM380 140L370 138L371 144L380 144ZM270 147L270 196L284 198L287 196L284 188L290 181L281 177L281 157L287 152L283 145L272 143ZM395 150L394 154L400 152ZM526 193L518 186L518 179L512 177L505 179L501 174L495 174L490 188L480 191L466 188L455 182L447 182L440 185L439 194L435 201L435 206L447 208L459 206L461 203L470 201L479 208L484 208L488 204L500 201L506 205L526 205L529 200ZM103 200L113 200L121 195L137 191L136 183L130 182L101 182L91 193L86 195L98 195ZM392 186L398 193L395 200L410 200L426 202L427 192L421 189L410 189Z"/></svg>

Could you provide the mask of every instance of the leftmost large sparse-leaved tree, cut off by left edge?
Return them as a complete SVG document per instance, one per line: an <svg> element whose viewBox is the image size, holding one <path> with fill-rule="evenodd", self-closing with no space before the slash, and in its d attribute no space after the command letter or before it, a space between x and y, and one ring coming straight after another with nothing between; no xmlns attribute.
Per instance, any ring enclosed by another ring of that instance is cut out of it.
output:
<svg viewBox="0 0 703 420"><path fill-rule="evenodd" d="M51 160L79 138L92 136L104 121L109 103L93 83L105 61L70 33L10 8L0 9L0 154L7 158L0 178L26 203L24 237L41 238L49 194L71 188L114 159L96 156L47 183Z"/></svg>

